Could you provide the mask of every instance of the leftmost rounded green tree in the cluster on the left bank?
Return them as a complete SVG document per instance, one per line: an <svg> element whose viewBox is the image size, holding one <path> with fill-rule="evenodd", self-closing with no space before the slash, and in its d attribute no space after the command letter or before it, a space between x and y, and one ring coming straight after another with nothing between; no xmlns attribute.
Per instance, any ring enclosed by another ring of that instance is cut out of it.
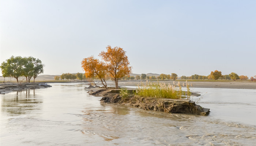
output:
<svg viewBox="0 0 256 146"><path fill-rule="evenodd" d="M20 57L11 56L6 62L2 62L0 68L4 76L12 76L19 82L19 77L24 73L25 60Z"/></svg>

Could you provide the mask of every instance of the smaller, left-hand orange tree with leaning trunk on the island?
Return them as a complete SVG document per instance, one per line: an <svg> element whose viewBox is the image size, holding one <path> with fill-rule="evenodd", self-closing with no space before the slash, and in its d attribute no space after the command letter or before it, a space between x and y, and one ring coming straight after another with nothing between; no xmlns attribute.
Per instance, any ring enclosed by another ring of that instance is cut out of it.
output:
<svg viewBox="0 0 256 146"><path fill-rule="evenodd" d="M99 61L99 59L94 58L93 56L84 58L81 62L82 69L85 71L85 76L87 78L97 77L101 80L101 84L107 88L106 83L106 65L104 62Z"/></svg>

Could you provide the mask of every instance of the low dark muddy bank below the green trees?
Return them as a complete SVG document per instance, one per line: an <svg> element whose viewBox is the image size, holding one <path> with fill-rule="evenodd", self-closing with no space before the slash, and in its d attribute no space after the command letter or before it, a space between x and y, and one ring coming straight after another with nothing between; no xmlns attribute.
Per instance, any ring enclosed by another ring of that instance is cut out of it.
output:
<svg viewBox="0 0 256 146"><path fill-rule="evenodd" d="M0 94L9 93L12 91L22 91L26 89L42 89L52 87L46 83L5 83L0 84Z"/></svg>

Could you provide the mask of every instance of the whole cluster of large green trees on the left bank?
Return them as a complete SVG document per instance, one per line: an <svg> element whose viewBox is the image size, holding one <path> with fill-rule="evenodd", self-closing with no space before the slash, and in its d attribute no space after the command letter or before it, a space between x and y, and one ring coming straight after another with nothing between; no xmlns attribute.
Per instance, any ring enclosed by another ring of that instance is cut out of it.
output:
<svg viewBox="0 0 256 146"><path fill-rule="evenodd" d="M9 59L1 63L1 71L3 77L14 77L19 82L19 77L26 77L26 82L30 82L33 77L35 78L40 74L44 73L44 64L40 59L34 57L14 57L11 56Z"/></svg>

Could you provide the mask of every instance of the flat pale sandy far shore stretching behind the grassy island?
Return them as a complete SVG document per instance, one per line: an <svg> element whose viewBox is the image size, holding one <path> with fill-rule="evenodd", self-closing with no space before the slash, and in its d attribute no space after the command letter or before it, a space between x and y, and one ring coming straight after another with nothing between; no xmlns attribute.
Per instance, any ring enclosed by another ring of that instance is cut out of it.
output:
<svg viewBox="0 0 256 146"><path fill-rule="evenodd" d="M157 81L152 81L153 83L157 83ZM159 81L165 82L165 84L173 84L173 81ZM177 84L178 81L175 81ZM180 82L181 85L186 83L183 81ZM234 89L256 89L256 82L189 82L192 83L192 88L234 88ZM140 84L140 81L119 81L118 86L137 86ZM146 81L143 81L143 84L146 84ZM97 85L100 85L98 83ZM107 85L110 87L114 87L115 84L113 81L108 81Z"/></svg>

